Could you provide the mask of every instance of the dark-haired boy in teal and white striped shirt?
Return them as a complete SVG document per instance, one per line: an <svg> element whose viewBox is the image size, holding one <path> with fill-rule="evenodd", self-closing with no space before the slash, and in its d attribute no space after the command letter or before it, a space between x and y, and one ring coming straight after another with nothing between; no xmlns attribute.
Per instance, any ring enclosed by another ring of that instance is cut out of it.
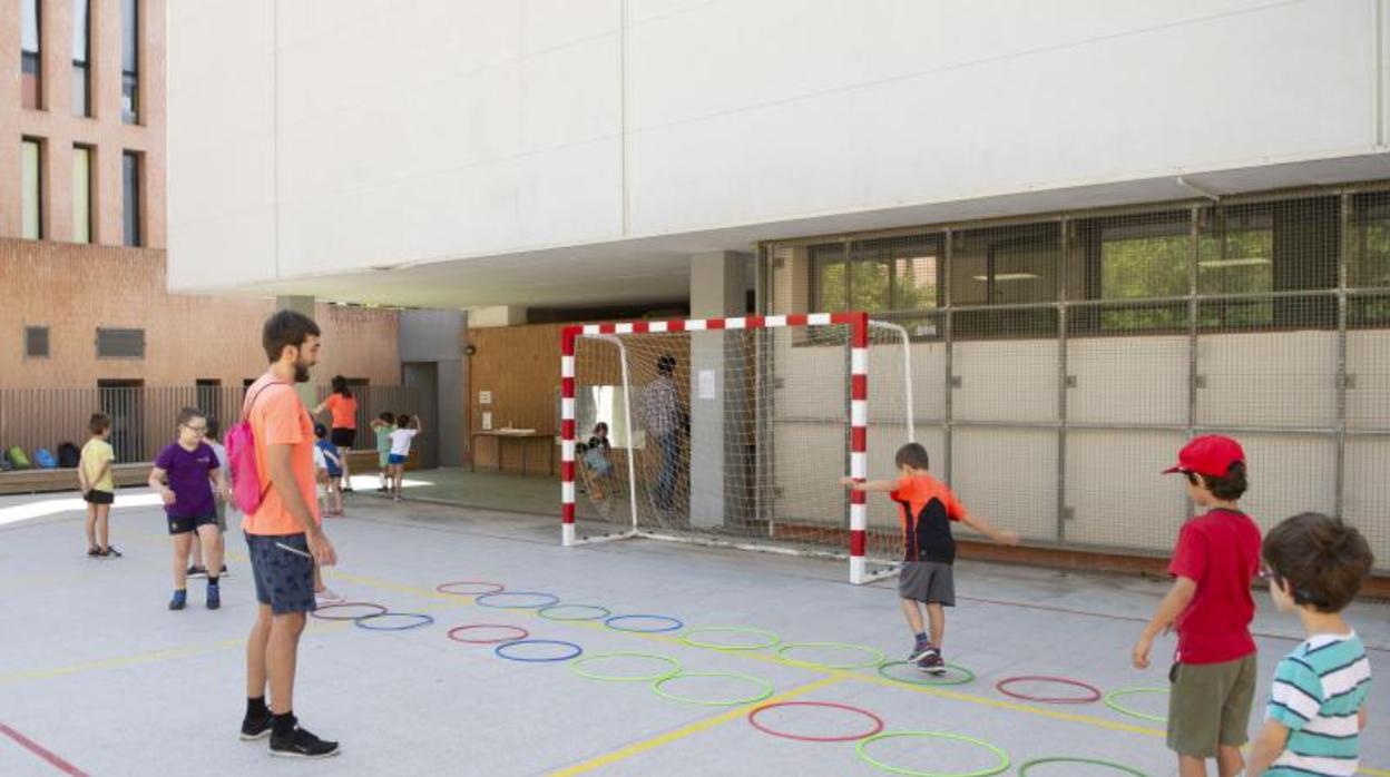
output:
<svg viewBox="0 0 1390 777"><path fill-rule="evenodd" d="M1350 777L1366 727L1371 662L1341 610L1371 571L1371 546L1340 520L1304 513L1265 537L1264 556L1275 606L1297 612L1308 639L1275 667L1250 774Z"/></svg>

